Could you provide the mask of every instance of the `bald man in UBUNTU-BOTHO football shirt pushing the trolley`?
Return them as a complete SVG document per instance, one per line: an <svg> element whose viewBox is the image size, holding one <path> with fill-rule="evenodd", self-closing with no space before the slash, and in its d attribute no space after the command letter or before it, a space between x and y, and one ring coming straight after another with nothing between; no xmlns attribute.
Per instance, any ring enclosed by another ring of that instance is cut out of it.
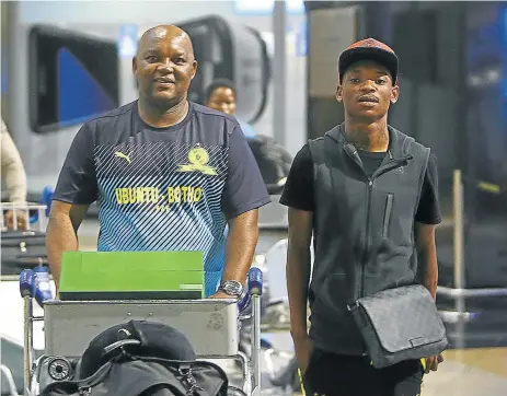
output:
<svg viewBox="0 0 507 396"><path fill-rule="evenodd" d="M181 28L147 31L132 70L139 100L85 123L61 170L47 229L55 282L97 200L99 251L203 252L206 295L238 296L257 243L257 208L269 202L241 127L188 102L197 62Z"/></svg>

